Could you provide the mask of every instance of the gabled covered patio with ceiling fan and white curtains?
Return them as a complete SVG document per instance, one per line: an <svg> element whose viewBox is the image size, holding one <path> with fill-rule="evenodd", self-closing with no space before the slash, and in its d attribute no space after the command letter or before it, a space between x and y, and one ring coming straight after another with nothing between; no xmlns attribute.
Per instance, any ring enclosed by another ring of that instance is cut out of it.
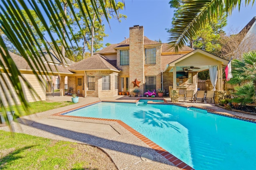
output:
<svg viewBox="0 0 256 170"><path fill-rule="evenodd" d="M209 70L213 90L222 93L222 68L228 62L226 59L196 49L166 65L162 73L162 88L168 89L172 102L178 102L178 97L184 95L186 90L194 90L194 94L197 92L198 72Z"/></svg>

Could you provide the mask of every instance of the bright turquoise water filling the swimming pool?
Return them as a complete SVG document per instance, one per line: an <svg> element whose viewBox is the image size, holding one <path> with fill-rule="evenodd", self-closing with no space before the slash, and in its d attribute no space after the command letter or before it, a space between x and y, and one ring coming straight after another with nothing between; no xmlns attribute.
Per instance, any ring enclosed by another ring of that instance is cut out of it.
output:
<svg viewBox="0 0 256 170"><path fill-rule="evenodd" d="M101 102L66 115L119 119L196 170L256 167L256 123L161 104Z"/></svg>

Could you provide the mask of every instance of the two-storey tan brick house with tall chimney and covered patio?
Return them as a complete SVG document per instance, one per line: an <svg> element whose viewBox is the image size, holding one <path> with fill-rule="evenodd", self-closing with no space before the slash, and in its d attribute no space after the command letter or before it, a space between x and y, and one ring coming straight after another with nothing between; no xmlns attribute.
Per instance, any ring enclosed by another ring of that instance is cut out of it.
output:
<svg viewBox="0 0 256 170"><path fill-rule="evenodd" d="M143 26L130 27L130 37L98 51L92 57L70 65L74 73L68 76L68 86L82 96L116 96L118 92L159 88L197 90L197 74L218 66L218 90L222 87L222 67L228 61L202 51L183 47L175 53L166 43L144 36ZM138 80L139 87L134 86Z"/></svg>

